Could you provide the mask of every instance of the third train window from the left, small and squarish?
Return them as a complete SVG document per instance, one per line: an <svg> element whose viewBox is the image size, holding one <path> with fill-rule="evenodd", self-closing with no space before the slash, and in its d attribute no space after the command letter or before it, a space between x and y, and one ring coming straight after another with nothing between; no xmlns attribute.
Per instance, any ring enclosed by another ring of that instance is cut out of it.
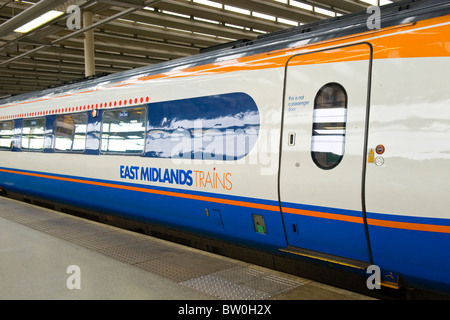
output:
<svg viewBox="0 0 450 320"><path fill-rule="evenodd" d="M82 152L86 146L87 114L66 114L56 117L55 150Z"/></svg>

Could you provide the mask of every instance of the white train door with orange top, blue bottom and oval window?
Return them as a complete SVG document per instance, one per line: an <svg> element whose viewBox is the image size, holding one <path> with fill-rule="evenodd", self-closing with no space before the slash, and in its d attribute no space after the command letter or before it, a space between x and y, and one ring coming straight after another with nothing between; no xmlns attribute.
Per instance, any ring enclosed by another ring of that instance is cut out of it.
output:
<svg viewBox="0 0 450 320"><path fill-rule="evenodd" d="M362 192L371 47L290 58L280 203L290 248L369 261Z"/></svg>

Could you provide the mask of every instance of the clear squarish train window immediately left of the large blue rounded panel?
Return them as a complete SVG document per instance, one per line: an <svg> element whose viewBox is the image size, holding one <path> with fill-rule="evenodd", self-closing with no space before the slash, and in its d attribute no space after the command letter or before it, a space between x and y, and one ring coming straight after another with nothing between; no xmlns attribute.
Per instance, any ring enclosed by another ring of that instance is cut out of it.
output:
<svg viewBox="0 0 450 320"><path fill-rule="evenodd" d="M143 153L145 128L145 107L104 111L101 151L118 154Z"/></svg>

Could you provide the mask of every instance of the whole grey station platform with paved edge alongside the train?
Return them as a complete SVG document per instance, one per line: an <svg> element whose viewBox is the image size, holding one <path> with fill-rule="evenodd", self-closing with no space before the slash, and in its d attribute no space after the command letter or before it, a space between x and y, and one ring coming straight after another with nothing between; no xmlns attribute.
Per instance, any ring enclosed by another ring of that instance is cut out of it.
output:
<svg viewBox="0 0 450 320"><path fill-rule="evenodd" d="M372 300L0 197L1 300Z"/></svg>

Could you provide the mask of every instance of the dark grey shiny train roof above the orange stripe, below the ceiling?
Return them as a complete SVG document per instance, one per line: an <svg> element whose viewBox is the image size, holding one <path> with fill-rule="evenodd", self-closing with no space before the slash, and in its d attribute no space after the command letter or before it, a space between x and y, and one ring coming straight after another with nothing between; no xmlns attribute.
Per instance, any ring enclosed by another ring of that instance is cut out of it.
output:
<svg viewBox="0 0 450 320"><path fill-rule="evenodd" d="M404 0L380 7L382 28L410 23L450 14L450 0ZM124 81L130 78L169 72L182 66L199 66L223 61L224 57L240 58L248 55L287 48L293 43L311 44L333 38L367 31L367 20L372 13L366 11L347 14L302 26L276 31L259 36L256 40L238 40L206 48L190 57L162 62L147 67L118 72L101 77L88 77L84 81L62 84L31 93L0 99L0 104L35 99L47 95L58 95L67 91L85 90L100 84Z"/></svg>

